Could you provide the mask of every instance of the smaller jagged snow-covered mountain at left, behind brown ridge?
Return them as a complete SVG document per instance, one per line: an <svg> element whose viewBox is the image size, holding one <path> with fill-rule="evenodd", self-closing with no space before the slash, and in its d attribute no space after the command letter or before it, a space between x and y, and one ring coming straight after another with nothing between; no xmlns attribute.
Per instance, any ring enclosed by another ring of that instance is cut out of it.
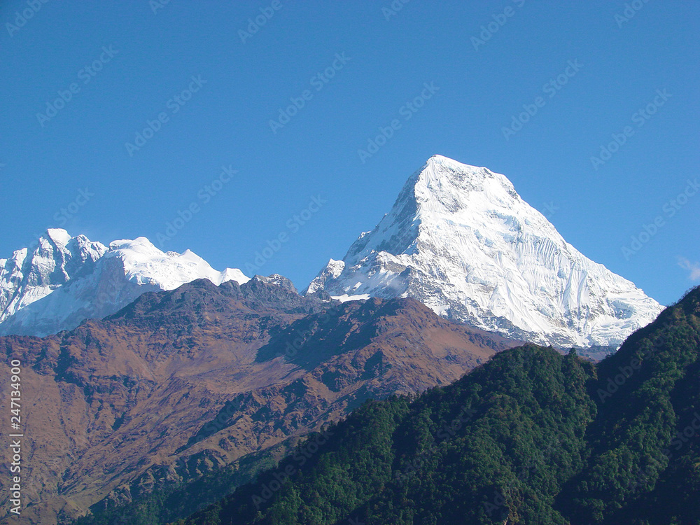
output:
<svg viewBox="0 0 700 525"><path fill-rule="evenodd" d="M173 290L195 279L248 281L218 272L191 251L163 253L146 237L109 248L84 235L51 229L36 246L0 259L0 335L47 335L102 318L147 291Z"/></svg>

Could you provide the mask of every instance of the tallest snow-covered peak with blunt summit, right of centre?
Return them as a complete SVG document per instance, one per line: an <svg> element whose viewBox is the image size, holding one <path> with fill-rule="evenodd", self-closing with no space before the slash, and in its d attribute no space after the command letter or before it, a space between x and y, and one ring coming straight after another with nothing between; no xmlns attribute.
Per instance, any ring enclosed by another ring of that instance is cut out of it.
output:
<svg viewBox="0 0 700 525"><path fill-rule="evenodd" d="M559 347L619 346L661 306L584 257L501 174L435 155L307 293L414 297L477 328Z"/></svg>

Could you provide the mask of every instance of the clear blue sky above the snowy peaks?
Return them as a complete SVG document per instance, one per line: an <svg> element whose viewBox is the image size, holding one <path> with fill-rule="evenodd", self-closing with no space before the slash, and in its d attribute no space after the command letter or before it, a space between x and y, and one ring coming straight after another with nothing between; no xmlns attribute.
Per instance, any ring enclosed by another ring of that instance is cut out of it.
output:
<svg viewBox="0 0 700 525"><path fill-rule="evenodd" d="M700 176L697 1L637 0L628 20L616 20L623 1L598 0L412 0L394 13L388 0L36 3L0 6L2 257L59 225L158 244L195 203L166 250L245 269L286 232L259 273L304 288L440 153L506 174L571 244L662 303L699 282L700 194L668 208ZM258 15L265 25L241 36ZM54 104L59 92L69 101ZM423 107L404 107L421 93ZM290 98L304 106L273 131ZM653 115L636 113L647 104ZM524 105L537 112L504 133ZM400 129L362 162L393 119ZM211 186L222 166L237 173ZM327 202L292 230L312 195Z"/></svg>

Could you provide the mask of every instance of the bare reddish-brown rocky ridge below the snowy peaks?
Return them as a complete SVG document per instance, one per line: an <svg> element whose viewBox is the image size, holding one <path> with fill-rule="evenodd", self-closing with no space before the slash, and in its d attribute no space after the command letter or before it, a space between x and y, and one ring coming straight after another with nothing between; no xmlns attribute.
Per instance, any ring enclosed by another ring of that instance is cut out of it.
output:
<svg viewBox="0 0 700 525"><path fill-rule="evenodd" d="M191 482L514 344L415 300L301 297L280 276L201 279L70 332L0 337L22 363L22 519L65 522Z"/></svg>

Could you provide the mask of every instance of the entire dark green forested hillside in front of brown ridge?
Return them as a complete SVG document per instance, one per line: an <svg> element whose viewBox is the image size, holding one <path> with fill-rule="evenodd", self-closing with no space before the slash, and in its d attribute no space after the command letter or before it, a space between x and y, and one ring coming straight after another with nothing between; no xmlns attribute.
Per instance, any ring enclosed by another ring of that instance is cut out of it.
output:
<svg viewBox="0 0 700 525"><path fill-rule="evenodd" d="M698 525L699 350L700 288L598 365L526 345L367 402L178 524Z"/></svg>

